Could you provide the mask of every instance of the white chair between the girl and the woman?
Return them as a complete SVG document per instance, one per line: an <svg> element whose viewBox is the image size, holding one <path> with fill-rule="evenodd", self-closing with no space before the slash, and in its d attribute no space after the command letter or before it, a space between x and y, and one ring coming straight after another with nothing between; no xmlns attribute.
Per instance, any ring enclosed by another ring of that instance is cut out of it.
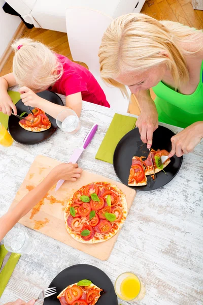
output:
<svg viewBox="0 0 203 305"><path fill-rule="evenodd" d="M129 100L120 89L107 85L100 77L98 51L101 38L112 18L95 10L70 8L66 10L66 30L71 54L76 62L85 63L107 97L111 108L127 112Z"/></svg>

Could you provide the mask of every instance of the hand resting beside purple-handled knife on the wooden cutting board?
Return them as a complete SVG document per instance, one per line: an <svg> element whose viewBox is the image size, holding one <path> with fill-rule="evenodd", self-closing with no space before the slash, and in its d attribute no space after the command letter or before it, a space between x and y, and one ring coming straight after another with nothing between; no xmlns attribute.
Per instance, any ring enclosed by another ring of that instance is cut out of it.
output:
<svg viewBox="0 0 203 305"><path fill-rule="evenodd" d="M82 169L78 167L78 164L62 163L55 166L51 173L56 177L56 180L69 180L76 181L80 178Z"/></svg>

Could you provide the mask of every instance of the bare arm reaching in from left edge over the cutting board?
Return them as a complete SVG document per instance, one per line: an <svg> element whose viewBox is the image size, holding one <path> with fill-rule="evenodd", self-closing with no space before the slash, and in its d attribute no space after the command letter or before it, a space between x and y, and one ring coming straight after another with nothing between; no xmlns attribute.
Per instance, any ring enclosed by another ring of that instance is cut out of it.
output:
<svg viewBox="0 0 203 305"><path fill-rule="evenodd" d="M9 230L34 207L60 179L76 181L81 176L82 169L77 164L59 164L54 167L48 176L14 207L0 218L0 241Z"/></svg>

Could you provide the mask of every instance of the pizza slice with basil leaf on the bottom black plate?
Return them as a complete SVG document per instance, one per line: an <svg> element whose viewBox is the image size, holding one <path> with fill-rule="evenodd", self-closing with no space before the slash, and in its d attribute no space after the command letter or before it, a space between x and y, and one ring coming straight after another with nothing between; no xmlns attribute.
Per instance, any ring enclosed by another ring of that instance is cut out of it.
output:
<svg viewBox="0 0 203 305"><path fill-rule="evenodd" d="M101 291L103 289L98 288L91 281L82 280L76 284L67 286L57 298L61 305L95 305L100 297Z"/></svg>

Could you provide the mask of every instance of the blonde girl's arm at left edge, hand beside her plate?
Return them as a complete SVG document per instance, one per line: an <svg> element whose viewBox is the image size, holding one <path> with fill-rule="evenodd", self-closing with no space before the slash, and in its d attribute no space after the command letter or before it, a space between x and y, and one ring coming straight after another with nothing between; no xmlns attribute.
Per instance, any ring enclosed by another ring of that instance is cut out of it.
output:
<svg viewBox="0 0 203 305"><path fill-rule="evenodd" d="M0 77L0 111L4 114L11 115L11 109L17 114L16 106L7 93L8 87L17 85L13 73L6 74Z"/></svg>

